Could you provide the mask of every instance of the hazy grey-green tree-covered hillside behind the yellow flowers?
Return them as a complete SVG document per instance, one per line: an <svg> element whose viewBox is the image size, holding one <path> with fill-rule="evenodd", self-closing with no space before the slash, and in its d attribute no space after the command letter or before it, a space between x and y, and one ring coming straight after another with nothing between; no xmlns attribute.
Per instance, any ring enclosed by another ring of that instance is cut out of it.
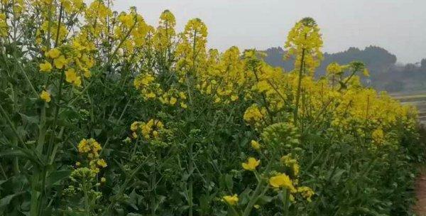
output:
<svg viewBox="0 0 426 216"><path fill-rule="evenodd" d="M283 60L285 50L283 48L269 48L264 51L266 62L289 71L293 68L294 60ZM397 58L388 50L378 46L368 46L361 50L349 48L339 53L324 53L324 60L317 69L316 76L325 74L325 68L329 63L348 64L353 60L360 60L370 70L371 77L364 80L366 85L377 90L388 92L411 92L426 90L426 59L421 63L398 64Z"/></svg>

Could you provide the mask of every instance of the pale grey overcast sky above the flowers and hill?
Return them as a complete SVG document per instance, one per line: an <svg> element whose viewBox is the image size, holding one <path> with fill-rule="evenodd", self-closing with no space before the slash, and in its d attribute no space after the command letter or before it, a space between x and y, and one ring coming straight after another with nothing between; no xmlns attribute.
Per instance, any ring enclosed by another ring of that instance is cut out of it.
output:
<svg viewBox="0 0 426 216"><path fill-rule="evenodd" d="M282 46L295 21L315 18L324 52L378 45L400 63L426 58L426 0L116 0L117 11L136 6L157 26L169 9L182 30L190 18L201 18L209 30L209 47L236 45L265 49Z"/></svg>

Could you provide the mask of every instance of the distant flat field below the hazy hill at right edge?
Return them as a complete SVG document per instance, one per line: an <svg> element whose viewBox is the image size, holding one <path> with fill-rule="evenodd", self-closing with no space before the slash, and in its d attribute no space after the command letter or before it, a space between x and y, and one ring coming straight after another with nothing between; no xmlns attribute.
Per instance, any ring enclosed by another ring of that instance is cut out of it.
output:
<svg viewBox="0 0 426 216"><path fill-rule="evenodd" d="M426 92L403 92L391 94L403 104L412 104L419 109L420 123L426 124Z"/></svg>

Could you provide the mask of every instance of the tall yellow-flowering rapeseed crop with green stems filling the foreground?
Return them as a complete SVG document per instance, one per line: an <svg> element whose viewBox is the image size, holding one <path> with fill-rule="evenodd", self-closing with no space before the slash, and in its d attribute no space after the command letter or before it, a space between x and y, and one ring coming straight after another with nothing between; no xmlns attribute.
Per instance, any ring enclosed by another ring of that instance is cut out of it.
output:
<svg viewBox="0 0 426 216"><path fill-rule="evenodd" d="M410 215L416 110L359 61L316 80L312 18L283 72L170 11L0 2L0 215Z"/></svg>

